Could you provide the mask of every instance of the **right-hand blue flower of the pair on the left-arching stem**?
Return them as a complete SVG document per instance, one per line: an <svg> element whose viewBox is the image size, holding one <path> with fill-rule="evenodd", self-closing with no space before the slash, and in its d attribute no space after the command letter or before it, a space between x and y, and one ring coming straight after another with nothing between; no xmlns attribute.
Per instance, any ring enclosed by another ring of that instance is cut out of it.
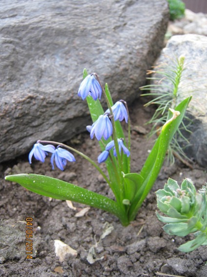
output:
<svg viewBox="0 0 207 277"><path fill-rule="evenodd" d="M61 147L57 147L55 152L51 156L50 162L52 163L52 169L54 169L54 159L55 163L58 168L64 170L64 166L66 165L67 161L75 162L76 159L69 151L62 149Z"/></svg>

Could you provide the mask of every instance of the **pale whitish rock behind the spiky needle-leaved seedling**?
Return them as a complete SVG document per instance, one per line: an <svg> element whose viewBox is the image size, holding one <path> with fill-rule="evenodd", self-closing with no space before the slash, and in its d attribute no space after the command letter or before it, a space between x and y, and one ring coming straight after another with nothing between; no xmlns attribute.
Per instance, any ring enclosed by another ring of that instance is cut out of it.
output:
<svg viewBox="0 0 207 277"><path fill-rule="evenodd" d="M193 122L186 151L201 166L207 166L207 37L187 34L173 36L156 64L172 66L175 57L185 57L185 70L178 88L178 102L192 95L188 115ZM165 85L167 81L165 80Z"/></svg>

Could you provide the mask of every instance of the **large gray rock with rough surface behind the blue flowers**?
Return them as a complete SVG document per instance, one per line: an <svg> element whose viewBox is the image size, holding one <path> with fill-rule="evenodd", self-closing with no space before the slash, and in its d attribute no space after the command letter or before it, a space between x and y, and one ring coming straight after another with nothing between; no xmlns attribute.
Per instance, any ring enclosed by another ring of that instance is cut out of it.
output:
<svg viewBox="0 0 207 277"><path fill-rule="evenodd" d="M77 96L83 68L131 102L157 58L166 0L1 1L0 162L37 139L65 141L85 130Z"/></svg>

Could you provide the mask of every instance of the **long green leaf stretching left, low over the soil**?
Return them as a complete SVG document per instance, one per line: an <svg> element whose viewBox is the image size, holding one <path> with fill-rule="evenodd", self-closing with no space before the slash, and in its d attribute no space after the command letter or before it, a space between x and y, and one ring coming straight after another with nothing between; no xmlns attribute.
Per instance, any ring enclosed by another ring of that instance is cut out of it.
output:
<svg viewBox="0 0 207 277"><path fill-rule="evenodd" d="M104 209L119 218L122 217L117 203L110 198L55 178L37 174L17 174L6 176L5 180L16 182L35 193L47 197L83 203Z"/></svg>

